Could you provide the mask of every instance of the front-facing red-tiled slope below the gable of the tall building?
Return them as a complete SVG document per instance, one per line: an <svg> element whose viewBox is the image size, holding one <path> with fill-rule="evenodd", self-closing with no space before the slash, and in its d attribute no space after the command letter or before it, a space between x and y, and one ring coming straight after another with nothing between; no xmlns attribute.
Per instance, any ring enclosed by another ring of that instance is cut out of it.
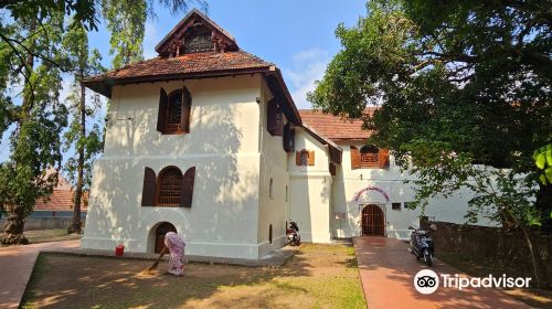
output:
<svg viewBox="0 0 552 309"><path fill-rule="evenodd" d="M171 77L193 73L267 68L274 64L244 51L226 53L192 53L178 57L155 57L109 71L85 81L86 85L100 81L139 79L145 77Z"/></svg>

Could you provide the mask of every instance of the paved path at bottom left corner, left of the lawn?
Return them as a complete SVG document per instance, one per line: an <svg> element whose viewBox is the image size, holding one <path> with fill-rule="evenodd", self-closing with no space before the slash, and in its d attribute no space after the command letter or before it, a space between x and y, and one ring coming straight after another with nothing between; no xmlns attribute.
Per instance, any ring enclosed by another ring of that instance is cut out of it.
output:
<svg viewBox="0 0 552 309"><path fill-rule="evenodd" d="M76 248L76 241L0 248L0 308L18 308L39 253L43 249Z"/></svg>

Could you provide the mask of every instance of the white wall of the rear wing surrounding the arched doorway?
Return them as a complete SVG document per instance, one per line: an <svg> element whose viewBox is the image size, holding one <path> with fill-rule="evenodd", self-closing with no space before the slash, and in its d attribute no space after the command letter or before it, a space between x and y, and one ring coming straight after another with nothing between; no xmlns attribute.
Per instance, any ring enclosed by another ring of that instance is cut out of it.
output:
<svg viewBox="0 0 552 309"><path fill-rule="evenodd" d="M333 178L332 195L333 212L343 212L344 219L331 216L333 237L351 237L361 234L361 211L367 204L378 204L382 207L385 216L386 236L395 238L408 238L408 226L418 226L421 210L408 210L404 207L404 202L414 200L413 184L404 183L404 180L414 179L408 173L402 173L395 166L393 157L390 158L390 168L386 169L351 169L350 146L360 149L362 143L341 142L343 149L342 163L337 169ZM379 188L389 198L376 190L367 190L360 196L358 193L367 188ZM467 202L473 193L463 189L453 196L444 196L428 201L425 215L431 220L453 223L465 223L467 213ZM355 199L357 198L357 199ZM392 210L392 203L401 203L401 210ZM480 219L481 225L491 225L489 220Z"/></svg>

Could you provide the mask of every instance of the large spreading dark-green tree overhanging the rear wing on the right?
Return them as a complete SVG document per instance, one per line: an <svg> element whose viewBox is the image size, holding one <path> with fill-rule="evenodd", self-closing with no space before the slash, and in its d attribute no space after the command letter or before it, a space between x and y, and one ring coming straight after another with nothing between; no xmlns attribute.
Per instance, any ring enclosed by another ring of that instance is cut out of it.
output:
<svg viewBox="0 0 552 309"><path fill-rule="evenodd" d="M308 98L414 163L421 202L468 187L468 219L546 230L552 190L532 156L552 140L551 26L549 0L372 0L337 29L342 50Z"/></svg>

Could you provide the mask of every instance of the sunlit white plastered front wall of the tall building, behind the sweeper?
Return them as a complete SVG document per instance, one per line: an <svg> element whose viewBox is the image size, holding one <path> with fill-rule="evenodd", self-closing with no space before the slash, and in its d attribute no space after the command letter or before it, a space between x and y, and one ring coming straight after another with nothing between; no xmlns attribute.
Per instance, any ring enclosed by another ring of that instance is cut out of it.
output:
<svg viewBox="0 0 552 309"><path fill-rule="evenodd" d="M151 231L170 222L187 254L258 258L261 75L116 86L105 151L96 161L85 248L152 251ZM188 135L160 135L160 87L192 95ZM191 209L142 207L145 167L197 167Z"/></svg>

